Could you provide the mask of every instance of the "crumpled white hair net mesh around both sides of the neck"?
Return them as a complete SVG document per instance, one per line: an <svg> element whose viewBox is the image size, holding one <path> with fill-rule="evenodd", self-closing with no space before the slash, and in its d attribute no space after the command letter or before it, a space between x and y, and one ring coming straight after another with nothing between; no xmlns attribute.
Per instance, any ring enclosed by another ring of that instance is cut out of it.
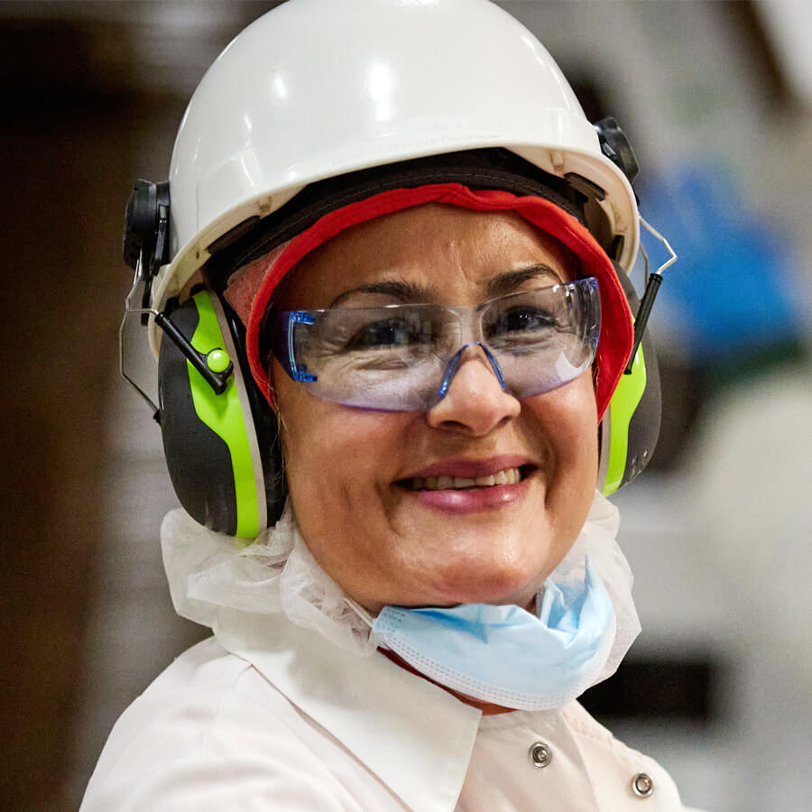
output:
<svg viewBox="0 0 812 812"><path fill-rule="evenodd" d="M619 526L617 508L595 492L583 530L553 573L558 581L583 579L589 556L614 604L614 643L595 682L614 674L640 632L632 571L615 540ZM161 525L161 547L175 610L195 623L213 626L220 607L267 614L268 623L283 613L350 651L369 655L378 646L368 620L310 554L290 502L274 527L242 549L183 510L171 511Z"/></svg>

